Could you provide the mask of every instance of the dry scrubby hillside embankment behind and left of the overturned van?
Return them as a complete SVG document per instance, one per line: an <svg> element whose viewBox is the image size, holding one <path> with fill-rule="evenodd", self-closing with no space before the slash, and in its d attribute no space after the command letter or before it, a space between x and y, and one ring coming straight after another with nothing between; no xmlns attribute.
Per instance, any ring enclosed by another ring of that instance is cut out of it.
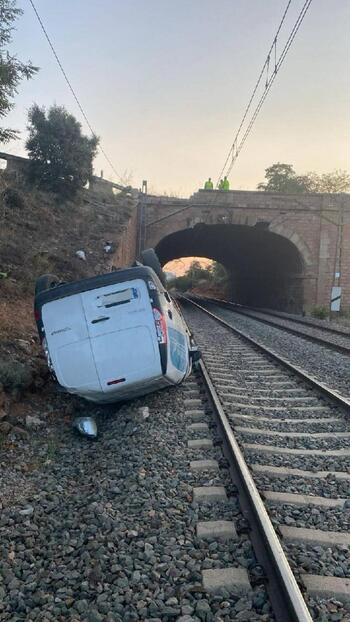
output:
<svg viewBox="0 0 350 622"><path fill-rule="evenodd" d="M36 389L47 384L33 317L36 278L49 272L68 281L109 271L134 207L127 193L106 199L84 190L64 201L0 180L0 440L11 414L16 420L21 411L23 394L42 399ZM106 252L107 241L113 252Z"/></svg>

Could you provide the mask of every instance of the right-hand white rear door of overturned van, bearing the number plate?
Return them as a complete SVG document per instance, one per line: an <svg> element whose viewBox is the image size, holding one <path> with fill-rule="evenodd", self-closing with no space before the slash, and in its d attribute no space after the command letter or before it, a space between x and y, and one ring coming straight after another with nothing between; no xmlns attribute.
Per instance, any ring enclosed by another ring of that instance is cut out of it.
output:
<svg viewBox="0 0 350 622"><path fill-rule="evenodd" d="M142 279L83 292L82 304L103 392L162 375L150 297Z"/></svg>

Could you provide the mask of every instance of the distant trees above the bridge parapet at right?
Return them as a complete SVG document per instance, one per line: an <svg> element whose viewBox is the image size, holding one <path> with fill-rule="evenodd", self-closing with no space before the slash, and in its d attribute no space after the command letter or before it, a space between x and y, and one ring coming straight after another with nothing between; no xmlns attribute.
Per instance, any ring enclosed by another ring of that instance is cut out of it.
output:
<svg viewBox="0 0 350 622"><path fill-rule="evenodd" d="M265 170L267 183L260 183L258 190L304 194L306 192L347 192L350 190L350 175L336 170L318 175L314 172L297 175L291 164L272 164Z"/></svg>

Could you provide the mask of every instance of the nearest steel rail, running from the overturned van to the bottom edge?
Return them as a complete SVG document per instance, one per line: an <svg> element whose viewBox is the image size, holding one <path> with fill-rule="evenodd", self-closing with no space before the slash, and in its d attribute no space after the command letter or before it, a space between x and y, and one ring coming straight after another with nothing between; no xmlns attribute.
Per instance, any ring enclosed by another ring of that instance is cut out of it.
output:
<svg viewBox="0 0 350 622"><path fill-rule="evenodd" d="M251 528L250 538L254 551L266 573L266 588L276 620L312 622L303 595L203 361L199 362L199 368L224 439L224 454L230 464L231 477L239 491L241 510Z"/></svg>

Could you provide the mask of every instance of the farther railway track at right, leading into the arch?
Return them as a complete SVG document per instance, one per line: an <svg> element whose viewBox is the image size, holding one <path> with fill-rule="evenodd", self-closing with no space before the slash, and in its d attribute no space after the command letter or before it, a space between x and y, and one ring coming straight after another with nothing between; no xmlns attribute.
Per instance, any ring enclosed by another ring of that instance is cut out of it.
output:
<svg viewBox="0 0 350 622"><path fill-rule="evenodd" d="M323 326L309 319L292 317L288 314L278 313L277 311L265 311L237 305L227 300L213 298L206 298L204 300L206 303L214 303L222 308L230 309L233 313L238 313L275 328L280 328L285 332L320 344L336 352L350 354L349 331L332 326Z"/></svg>

